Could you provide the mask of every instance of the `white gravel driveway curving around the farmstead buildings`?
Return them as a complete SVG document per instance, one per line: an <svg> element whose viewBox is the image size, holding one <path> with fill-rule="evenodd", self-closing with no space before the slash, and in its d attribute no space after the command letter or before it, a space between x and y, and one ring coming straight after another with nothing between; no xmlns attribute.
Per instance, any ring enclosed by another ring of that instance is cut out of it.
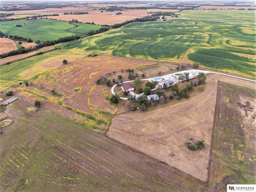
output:
<svg viewBox="0 0 256 192"><path fill-rule="evenodd" d="M215 74L220 74L220 75L225 75L225 76L229 76L229 77L234 77L234 78L238 78L238 79L243 79L243 80L247 80L247 81L256 82L256 80L252 80L252 79L246 79L246 78L237 77L237 76L233 76L233 75L228 75L228 74L223 74L223 73L218 73L218 72L212 72L212 71L206 71L206 70L196 70L196 69L194 69L194 70L186 70L186 71L179 71L179 72L175 72L175 73L172 73L172 74L163 75L163 76L161 76L161 77L164 78L164 79L169 79L169 78L172 77L172 75L175 75L175 74L184 74L184 73L192 73L193 76L197 76L198 73L200 73L200 72L203 72L203 73L215 73ZM172 78L173 78L173 77L172 77ZM141 80L142 80L142 81L146 81L146 80L150 80L150 79L151 79L151 78L141 79ZM133 82L133 81L125 81L125 82L123 82L123 83L127 83L127 82ZM115 87L116 87L116 84L111 88L111 93L114 94L114 95L116 94L116 93L114 92L114 88L115 88ZM154 89L152 89L152 91L153 91L153 90L156 90L156 89L157 89L157 85L156 85L156 87L155 87ZM120 99L127 100L126 97L120 97Z"/></svg>

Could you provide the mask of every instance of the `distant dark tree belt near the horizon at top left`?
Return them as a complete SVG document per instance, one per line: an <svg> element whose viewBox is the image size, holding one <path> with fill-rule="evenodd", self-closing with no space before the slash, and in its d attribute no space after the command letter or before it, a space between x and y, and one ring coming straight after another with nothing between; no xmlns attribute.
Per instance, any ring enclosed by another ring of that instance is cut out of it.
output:
<svg viewBox="0 0 256 192"><path fill-rule="evenodd" d="M66 7L63 4L48 4L48 3L26 3L24 6L1 7L0 11L19 11L19 10L40 10L46 8L62 8Z"/></svg>

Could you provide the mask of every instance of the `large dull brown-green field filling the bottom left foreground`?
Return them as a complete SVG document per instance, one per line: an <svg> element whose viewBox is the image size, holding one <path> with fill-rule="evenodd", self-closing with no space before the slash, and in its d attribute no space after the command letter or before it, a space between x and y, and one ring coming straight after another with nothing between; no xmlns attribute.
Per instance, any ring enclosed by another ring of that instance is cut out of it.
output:
<svg viewBox="0 0 256 192"><path fill-rule="evenodd" d="M48 109L28 113L33 105L18 100L4 112L14 122L2 128L0 191L198 191L204 187Z"/></svg>

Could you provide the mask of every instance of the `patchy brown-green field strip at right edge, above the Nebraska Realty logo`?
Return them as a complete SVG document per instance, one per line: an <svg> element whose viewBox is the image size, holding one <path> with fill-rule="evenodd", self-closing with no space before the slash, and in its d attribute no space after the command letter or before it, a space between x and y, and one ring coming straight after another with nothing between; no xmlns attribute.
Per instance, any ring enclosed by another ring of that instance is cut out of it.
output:
<svg viewBox="0 0 256 192"><path fill-rule="evenodd" d="M218 83L209 174L214 191L255 183L256 91L247 85Z"/></svg>

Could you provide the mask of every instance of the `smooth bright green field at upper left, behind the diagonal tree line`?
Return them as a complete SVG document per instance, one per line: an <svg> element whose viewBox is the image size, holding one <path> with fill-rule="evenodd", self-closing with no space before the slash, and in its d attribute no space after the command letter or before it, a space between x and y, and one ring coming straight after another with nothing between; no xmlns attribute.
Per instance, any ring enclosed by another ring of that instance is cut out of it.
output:
<svg viewBox="0 0 256 192"><path fill-rule="evenodd" d="M16 27L16 25L23 25ZM26 24L26 25L24 25ZM102 26L73 23L51 20L51 19L38 19L38 20L14 20L0 22L1 31L6 35L20 36L24 38L31 38L32 40L57 40L60 37L67 37L72 35L85 35L90 30L98 30Z"/></svg>

